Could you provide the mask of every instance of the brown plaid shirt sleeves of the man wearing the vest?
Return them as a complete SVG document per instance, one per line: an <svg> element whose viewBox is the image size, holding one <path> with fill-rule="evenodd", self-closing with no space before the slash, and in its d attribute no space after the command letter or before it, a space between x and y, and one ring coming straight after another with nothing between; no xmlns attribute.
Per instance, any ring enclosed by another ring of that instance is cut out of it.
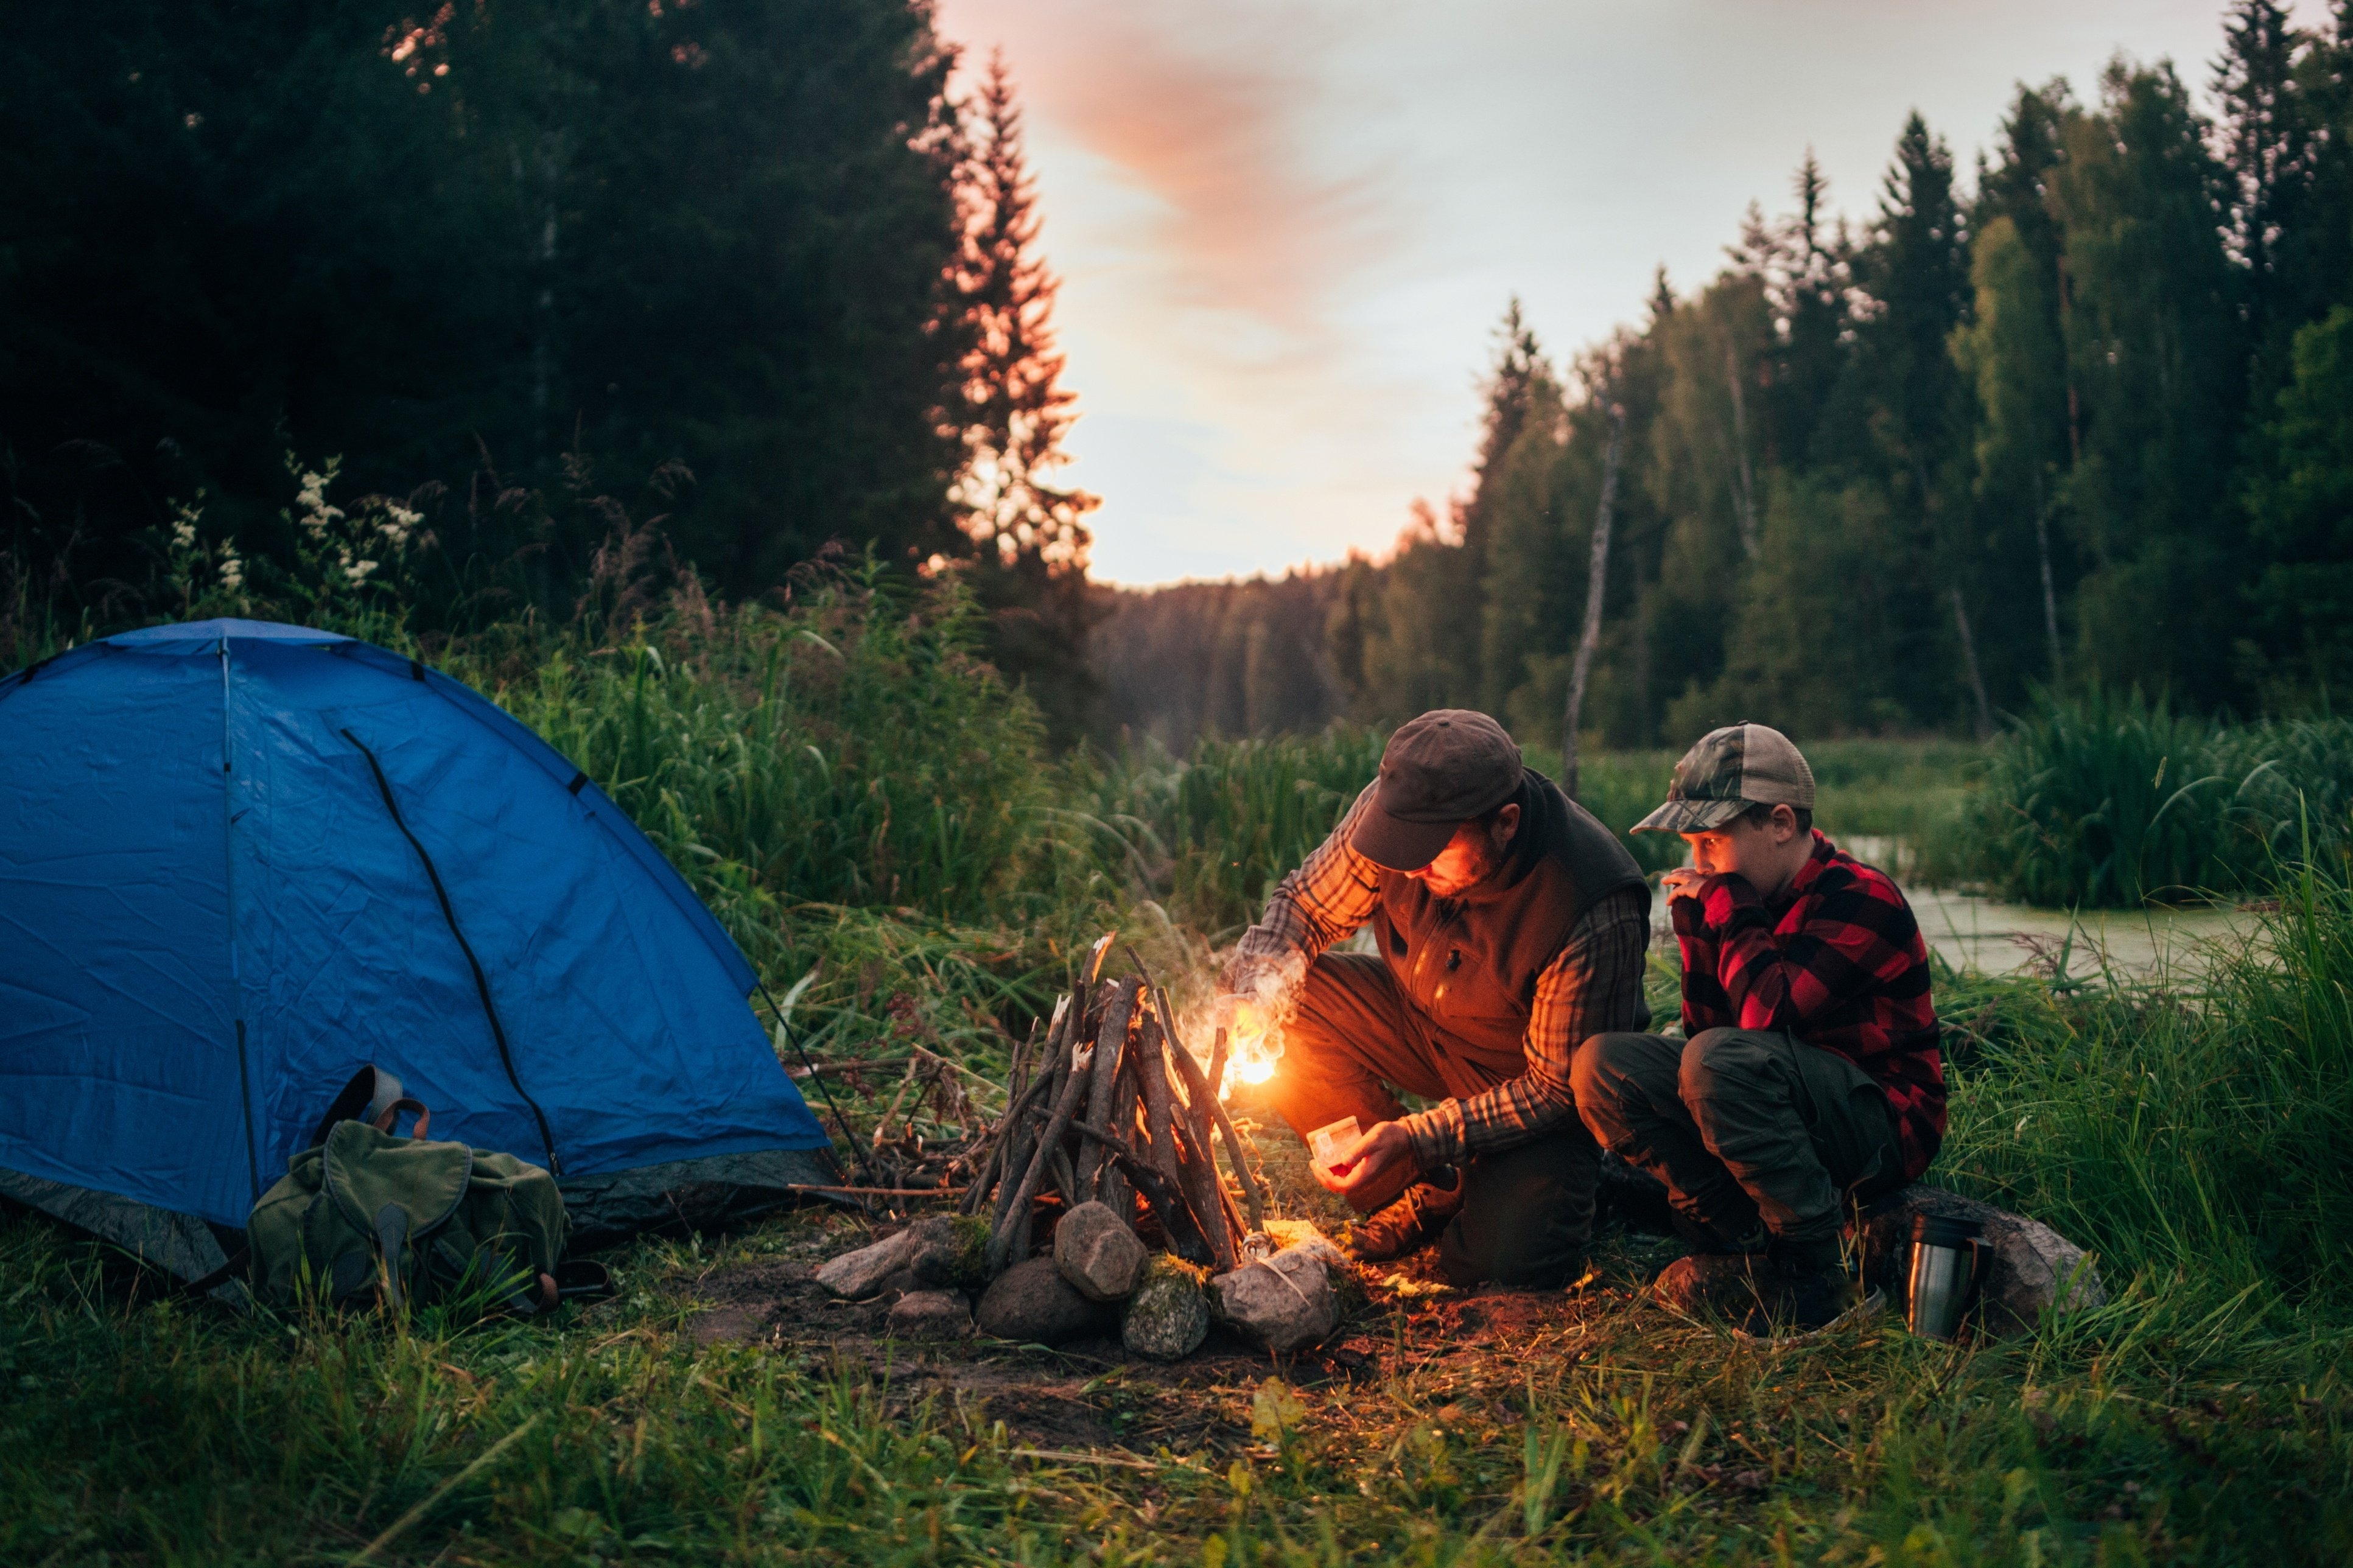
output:
<svg viewBox="0 0 2353 1568"><path fill-rule="evenodd" d="M1254 975L1280 975L1292 991L1306 965L1334 942L1355 935L1381 904L1388 876L1355 852L1348 833L1367 810L1358 796L1332 836L1275 885L1259 923L1242 932L1226 984L1257 989ZM1471 1099L1447 1099L1402 1121L1424 1170L1471 1154L1494 1154L1555 1128L1579 1125L1569 1092L1569 1057L1595 1034L1638 1029L1642 1019L1642 956L1649 949L1649 888L1624 888L1595 902L1537 977L1529 998L1527 1071Z"/></svg>

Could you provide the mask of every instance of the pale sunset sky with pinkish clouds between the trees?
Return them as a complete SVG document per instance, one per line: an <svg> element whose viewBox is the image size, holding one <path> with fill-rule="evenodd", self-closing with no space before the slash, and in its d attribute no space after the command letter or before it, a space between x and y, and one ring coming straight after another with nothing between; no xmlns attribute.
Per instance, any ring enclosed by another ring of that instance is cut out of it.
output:
<svg viewBox="0 0 2353 1568"><path fill-rule="evenodd" d="M2322 0L2301 0L2304 26ZM2014 85L2172 59L2217 0L939 0L1019 89L1094 574L1386 553L1468 483L1518 294L1555 358L1725 264L1807 148L1871 214L1918 108L1967 177Z"/></svg>

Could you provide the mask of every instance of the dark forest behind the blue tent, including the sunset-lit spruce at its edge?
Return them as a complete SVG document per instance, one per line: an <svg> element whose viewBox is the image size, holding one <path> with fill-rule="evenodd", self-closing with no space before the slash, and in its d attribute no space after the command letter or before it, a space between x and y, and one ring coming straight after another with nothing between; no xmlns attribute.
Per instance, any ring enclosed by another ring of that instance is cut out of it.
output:
<svg viewBox="0 0 2353 1568"><path fill-rule="evenodd" d="M438 546L428 626L565 614L598 551L751 598L842 542L965 570L1016 676L1078 669L1021 115L953 66L915 0L12 16L0 640L167 612L181 509L289 560L341 457ZM1040 695L1071 730L1087 685Z"/></svg>

